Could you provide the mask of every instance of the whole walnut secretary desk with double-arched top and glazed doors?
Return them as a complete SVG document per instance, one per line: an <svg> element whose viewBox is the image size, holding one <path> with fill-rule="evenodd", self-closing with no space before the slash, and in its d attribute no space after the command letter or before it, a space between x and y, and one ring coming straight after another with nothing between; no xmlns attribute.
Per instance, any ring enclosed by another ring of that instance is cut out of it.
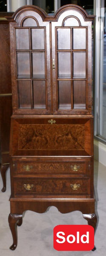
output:
<svg viewBox="0 0 106 256"><path fill-rule="evenodd" d="M10 25L12 109L11 212L81 211L96 227L93 188L92 21L76 5L48 16L22 6Z"/></svg>

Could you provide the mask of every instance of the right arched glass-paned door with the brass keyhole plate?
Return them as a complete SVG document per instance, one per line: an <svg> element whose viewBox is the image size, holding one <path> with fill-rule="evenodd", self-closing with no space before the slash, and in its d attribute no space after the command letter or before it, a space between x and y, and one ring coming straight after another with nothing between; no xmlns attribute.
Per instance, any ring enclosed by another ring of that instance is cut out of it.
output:
<svg viewBox="0 0 106 256"><path fill-rule="evenodd" d="M91 114L91 26L75 10L52 22L55 114Z"/></svg>

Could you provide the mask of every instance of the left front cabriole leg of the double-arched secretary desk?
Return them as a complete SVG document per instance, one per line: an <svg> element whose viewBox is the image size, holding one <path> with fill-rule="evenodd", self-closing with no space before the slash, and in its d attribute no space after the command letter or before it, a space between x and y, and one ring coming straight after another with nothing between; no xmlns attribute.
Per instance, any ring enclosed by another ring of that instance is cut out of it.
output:
<svg viewBox="0 0 106 256"><path fill-rule="evenodd" d="M8 216L8 223L13 237L13 244L11 245L10 249L15 250L17 247L17 225L21 226L22 215L10 213Z"/></svg>

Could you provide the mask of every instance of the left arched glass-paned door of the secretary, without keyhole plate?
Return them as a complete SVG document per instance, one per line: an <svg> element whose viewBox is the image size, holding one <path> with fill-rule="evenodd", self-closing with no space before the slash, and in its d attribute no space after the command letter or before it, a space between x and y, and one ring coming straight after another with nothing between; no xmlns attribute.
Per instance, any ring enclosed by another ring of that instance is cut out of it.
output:
<svg viewBox="0 0 106 256"><path fill-rule="evenodd" d="M50 26L40 12L24 12L11 24L11 55L13 112L50 114Z"/></svg>

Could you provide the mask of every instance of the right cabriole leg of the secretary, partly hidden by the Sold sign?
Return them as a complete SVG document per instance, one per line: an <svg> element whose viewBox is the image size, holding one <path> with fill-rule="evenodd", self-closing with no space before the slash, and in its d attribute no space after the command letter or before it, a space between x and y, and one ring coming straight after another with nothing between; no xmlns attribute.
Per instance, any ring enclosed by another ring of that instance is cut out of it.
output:
<svg viewBox="0 0 106 256"><path fill-rule="evenodd" d="M84 219L88 222L88 225L92 226L94 228L96 228L96 224L97 224L97 217L95 215L95 213L93 214L83 214ZM94 248L92 249L92 251L95 251L96 247L94 246Z"/></svg>

